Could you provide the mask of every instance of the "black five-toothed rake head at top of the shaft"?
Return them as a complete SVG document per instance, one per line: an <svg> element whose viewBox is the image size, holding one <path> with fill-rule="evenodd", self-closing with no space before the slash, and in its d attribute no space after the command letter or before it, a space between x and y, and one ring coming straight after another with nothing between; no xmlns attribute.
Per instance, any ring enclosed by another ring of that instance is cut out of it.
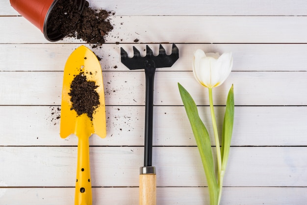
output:
<svg viewBox="0 0 307 205"><path fill-rule="evenodd" d="M160 44L159 54L157 56L153 55L153 51L146 45L146 55L141 56L140 51L133 46L133 57L129 58L128 53L121 48L121 60L122 63L127 66L130 70L144 69L145 63L148 61L153 61L155 68L165 68L171 67L179 58L179 50L175 44L172 47L172 53L167 55L165 49Z"/></svg>

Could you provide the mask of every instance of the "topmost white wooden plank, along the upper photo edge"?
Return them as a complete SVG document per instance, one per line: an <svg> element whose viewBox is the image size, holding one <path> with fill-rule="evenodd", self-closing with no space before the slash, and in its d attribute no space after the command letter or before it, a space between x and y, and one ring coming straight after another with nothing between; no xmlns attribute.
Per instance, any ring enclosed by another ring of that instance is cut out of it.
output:
<svg viewBox="0 0 307 205"><path fill-rule="evenodd" d="M155 16L155 15L306 15L304 0L194 0L193 3L174 0L142 0L137 6L122 0L88 0L94 8L105 8L115 11L115 15ZM184 9L182 9L184 8ZM14 16L18 13L10 6L9 1L3 1L0 15Z"/></svg>

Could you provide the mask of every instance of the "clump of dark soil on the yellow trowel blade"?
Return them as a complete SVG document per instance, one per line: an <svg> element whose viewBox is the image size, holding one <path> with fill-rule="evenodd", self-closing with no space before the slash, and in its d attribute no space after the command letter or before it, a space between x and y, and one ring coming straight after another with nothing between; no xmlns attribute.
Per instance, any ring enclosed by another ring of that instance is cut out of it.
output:
<svg viewBox="0 0 307 205"><path fill-rule="evenodd" d="M100 104L99 94L95 90L97 87L95 81L88 81L83 72L75 76L68 95L71 96L71 109L75 110L77 115L86 113L87 116L93 120L93 114Z"/></svg>

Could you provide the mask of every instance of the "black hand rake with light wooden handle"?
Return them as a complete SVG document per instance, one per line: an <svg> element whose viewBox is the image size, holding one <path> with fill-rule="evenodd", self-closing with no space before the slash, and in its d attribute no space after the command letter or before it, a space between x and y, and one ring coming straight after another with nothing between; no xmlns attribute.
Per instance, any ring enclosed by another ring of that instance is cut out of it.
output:
<svg viewBox="0 0 307 205"><path fill-rule="evenodd" d="M153 80L156 68L171 67L179 58L179 50L175 44L172 53L167 55L160 45L159 54L153 55L153 51L146 46L146 56L142 57L140 51L133 47L134 55L128 57L128 53L121 48L122 63L130 70L145 69L146 100L145 100L145 145L144 166L140 167L140 205L156 205L156 175L152 165L153 155Z"/></svg>

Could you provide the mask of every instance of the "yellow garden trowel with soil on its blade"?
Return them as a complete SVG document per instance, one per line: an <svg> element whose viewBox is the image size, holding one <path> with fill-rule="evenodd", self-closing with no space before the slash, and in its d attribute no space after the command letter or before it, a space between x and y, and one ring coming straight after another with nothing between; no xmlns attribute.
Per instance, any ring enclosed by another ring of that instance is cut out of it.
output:
<svg viewBox="0 0 307 205"><path fill-rule="evenodd" d="M87 81L94 81L98 86L95 90L99 95L99 105L92 118L86 113L78 115L72 109L71 84L79 74L85 75ZM93 133L102 138L106 135L102 70L96 55L85 46L80 46L69 56L64 68L60 125L62 138L70 134L78 137L75 205L92 205L89 137Z"/></svg>

